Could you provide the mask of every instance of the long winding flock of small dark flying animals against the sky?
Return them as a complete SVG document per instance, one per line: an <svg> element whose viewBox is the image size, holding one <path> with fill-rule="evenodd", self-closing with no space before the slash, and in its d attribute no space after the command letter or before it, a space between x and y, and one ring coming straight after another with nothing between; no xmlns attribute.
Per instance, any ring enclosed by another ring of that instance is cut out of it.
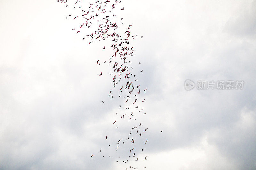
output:
<svg viewBox="0 0 256 170"><path fill-rule="evenodd" d="M72 1L72 2L70 2ZM123 18L118 18L117 15L114 14L116 10L124 10L124 7L120 7L122 0L91 0L92 2L88 2L88 0L57 0L57 2L63 4L64 6L71 8L76 13L75 15L70 13L66 16L67 19L77 20L77 25L72 28L75 34L80 34L82 40L87 40L88 45L93 43L94 41L104 41L111 42L104 47L113 49L112 55L109 56L108 61L101 62L100 59L95 61L95 64L107 64L111 69L111 73L107 73L112 75L113 89L109 91L110 100L114 97L119 98L120 102L123 102L125 106L121 106L122 104L117 104L118 108L122 110L122 113L115 113L116 120L111 122L112 126L114 126L118 121L128 121L131 125L129 130L127 129L127 137L126 138L118 138L116 139L115 152L118 152L120 148L125 148L122 150L123 153L120 155L125 157L123 160L120 160L120 156L116 158L116 162L123 162L124 164L128 164L127 168L129 169L138 169L138 167L132 166L129 163L132 160L138 161L137 154L142 154L144 151L143 145L146 145L148 142L147 138L143 138L143 134L147 132L146 127L143 127L140 122L136 121L136 116L138 114L146 116L145 108L142 106L143 100L140 99L139 95L147 92L147 88L140 89L138 78L136 74L132 72L132 61L129 59L130 56L134 55L134 47L129 44L130 40L134 38L143 38L143 36L138 36L137 34L132 33L131 27L132 25L127 25L126 29L118 29L119 25L124 25ZM93 2L94 1L94 2ZM119 6L119 8L118 8ZM135 67L140 66L138 62ZM99 76L105 74L104 72L99 72ZM138 71L137 74L143 74L143 70ZM114 90L119 94L115 95ZM113 96L114 95L114 96ZM123 101L122 101L123 100ZM130 102L131 101L131 102ZM101 101L104 104L104 101ZM134 111L132 111L135 110ZM131 112L131 111L132 112ZM143 128L142 128L143 127ZM116 127L118 129L118 127ZM163 132L163 131L161 131ZM143 143L140 145L142 148L135 148L132 146L134 142L138 139L139 142ZM104 137L104 140L108 141L108 135ZM129 149L126 150L127 147L124 147L126 144L129 144ZM95 155L101 156L103 158L111 157L111 155L107 154L103 150L99 149L97 154L92 154L91 158L94 158ZM126 152L126 153L124 153ZM143 160L147 160L147 156L143 156ZM127 169L125 168L125 169ZM146 168L145 166L142 167Z"/></svg>

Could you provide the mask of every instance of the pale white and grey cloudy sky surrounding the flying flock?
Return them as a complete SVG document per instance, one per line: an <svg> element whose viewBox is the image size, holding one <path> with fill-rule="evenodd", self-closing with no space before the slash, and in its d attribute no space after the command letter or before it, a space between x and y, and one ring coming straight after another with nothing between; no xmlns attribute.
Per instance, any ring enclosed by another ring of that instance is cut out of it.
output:
<svg viewBox="0 0 256 170"><path fill-rule="evenodd" d="M144 36L133 41L133 61L141 62L138 79L148 89L148 143L138 153L148 159L132 164L255 169L256 1L123 6L124 23ZM0 0L0 169L127 167L98 153L112 154L105 134L126 133L111 126L118 99L108 99L111 77L99 78L107 68L95 64L109 55L72 32L67 13L53 0ZM245 83L243 90L186 91L188 78Z"/></svg>

